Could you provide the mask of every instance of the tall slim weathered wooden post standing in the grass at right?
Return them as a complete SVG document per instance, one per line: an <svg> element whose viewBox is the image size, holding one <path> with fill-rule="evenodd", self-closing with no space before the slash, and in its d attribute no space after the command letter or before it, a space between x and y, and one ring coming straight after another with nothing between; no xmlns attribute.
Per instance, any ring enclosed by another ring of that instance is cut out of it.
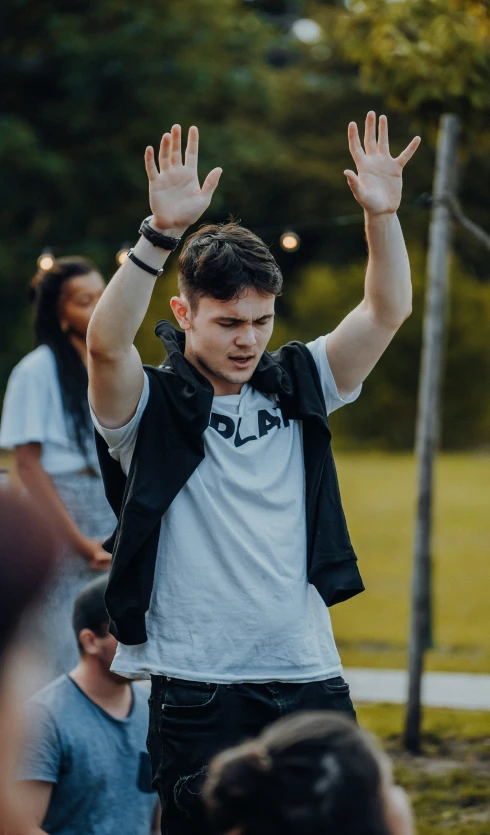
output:
<svg viewBox="0 0 490 835"><path fill-rule="evenodd" d="M431 641L431 523L433 466L440 424L440 391L447 317L448 262L452 222L448 201L456 192L459 120L441 117L429 230L427 290L416 428L417 516L409 645L405 747L420 750L421 684L425 650Z"/></svg>

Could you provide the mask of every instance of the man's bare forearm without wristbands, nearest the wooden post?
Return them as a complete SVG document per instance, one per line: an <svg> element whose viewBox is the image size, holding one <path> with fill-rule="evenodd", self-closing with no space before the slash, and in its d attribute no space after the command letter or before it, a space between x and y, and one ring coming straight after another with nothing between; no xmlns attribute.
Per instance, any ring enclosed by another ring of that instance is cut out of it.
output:
<svg viewBox="0 0 490 835"><path fill-rule="evenodd" d="M364 300L376 321L397 328L410 315L410 263L396 214L372 216L365 212L369 262Z"/></svg>

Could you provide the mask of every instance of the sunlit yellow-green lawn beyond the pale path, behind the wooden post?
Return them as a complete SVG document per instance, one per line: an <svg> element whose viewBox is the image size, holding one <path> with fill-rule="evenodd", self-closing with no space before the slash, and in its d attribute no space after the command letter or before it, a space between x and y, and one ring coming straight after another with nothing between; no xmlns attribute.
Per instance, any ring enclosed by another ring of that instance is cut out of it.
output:
<svg viewBox="0 0 490 835"><path fill-rule="evenodd" d="M343 663L406 667L415 462L339 453L345 511L366 591L331 610ZM490 458L443 455L436 471L434 649L427 669L490 673Z"/></svg>

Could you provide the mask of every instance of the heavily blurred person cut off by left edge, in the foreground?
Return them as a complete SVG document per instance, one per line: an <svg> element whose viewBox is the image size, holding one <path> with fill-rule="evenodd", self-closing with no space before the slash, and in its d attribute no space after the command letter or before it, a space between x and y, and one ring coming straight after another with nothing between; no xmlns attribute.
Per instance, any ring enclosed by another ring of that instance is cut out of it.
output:
<svg viewBox="0 0 490 835"><path fill-rule="evenodd" d="M10 787L21 735L19 677L26 660L17 657L16 635L49 579L59 542L33 503L6 489L0 489L0 542L0 824L13 826Z"/></svg>

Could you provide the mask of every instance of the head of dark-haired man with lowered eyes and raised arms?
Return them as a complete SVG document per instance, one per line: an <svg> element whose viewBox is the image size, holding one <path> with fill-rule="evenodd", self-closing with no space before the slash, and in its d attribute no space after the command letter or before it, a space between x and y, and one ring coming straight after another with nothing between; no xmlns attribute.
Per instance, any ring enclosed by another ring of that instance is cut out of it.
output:
<svg viewBox="0 0 490 835"><path fill-rule="evenodd" d="M186 333L186 356L219 392L250 379L274 325L281 271L268 246L237 223L190 235L179 258L172 310ZM223 386L221 386L223 387Z"/></svg>

